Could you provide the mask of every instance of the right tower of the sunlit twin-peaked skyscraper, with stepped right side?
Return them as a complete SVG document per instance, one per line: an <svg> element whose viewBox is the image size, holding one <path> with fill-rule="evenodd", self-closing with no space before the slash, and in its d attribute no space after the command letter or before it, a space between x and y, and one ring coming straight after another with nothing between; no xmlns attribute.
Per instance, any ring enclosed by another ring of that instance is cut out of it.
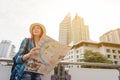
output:
<svg viewBox="0 0 120 80"><path fill-rule="evenodd" d="M78 14L72 20L71 33L71 38L74 43L90 40L88 26L84 25L84 19L79 17Z"/></svg>

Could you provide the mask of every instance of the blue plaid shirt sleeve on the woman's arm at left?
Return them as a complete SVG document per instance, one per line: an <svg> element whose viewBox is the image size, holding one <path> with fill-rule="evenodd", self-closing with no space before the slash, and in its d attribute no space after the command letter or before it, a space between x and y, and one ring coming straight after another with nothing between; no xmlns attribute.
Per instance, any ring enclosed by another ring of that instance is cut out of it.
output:
<svg viewBox="0 0 120 80"><path fill-rule="evenodd" d="M13 61L17 64L21 64L23 63L23 60L22 60L22 56L23 56L23 51L24 51L24 48L26 46L26 43L28 41L28 38L25 38L22 42L21 42L21 45L20 45L20 48L18 50L18 52L16 53L16 55L13 57Z"/></svg>

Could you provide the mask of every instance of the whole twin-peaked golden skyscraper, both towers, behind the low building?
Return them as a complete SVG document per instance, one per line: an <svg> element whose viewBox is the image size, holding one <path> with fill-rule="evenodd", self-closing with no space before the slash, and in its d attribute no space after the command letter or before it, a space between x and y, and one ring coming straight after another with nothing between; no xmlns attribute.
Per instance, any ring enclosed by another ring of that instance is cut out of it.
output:
<svg viewBox="0 0 120 80"><path fill-rule="evenodd" d="M80 18L77 14L71 21L70 14L65 16L64 20L60 23L59 29L59 41L64 44L76 44L80 41L88 41L89 30L88 26L84 25L83 18Z"/></svg>

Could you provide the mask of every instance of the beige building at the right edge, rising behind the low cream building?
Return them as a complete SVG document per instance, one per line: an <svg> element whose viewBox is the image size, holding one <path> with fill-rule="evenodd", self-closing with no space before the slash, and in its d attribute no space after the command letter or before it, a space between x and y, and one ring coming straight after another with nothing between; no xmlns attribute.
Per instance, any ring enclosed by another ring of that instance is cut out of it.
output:
<svg viewBox="0 0 120 80"><path fill-rule="evenodd" d="M120 44L120 28L111 30L100 36L100 41Z"/></svg>

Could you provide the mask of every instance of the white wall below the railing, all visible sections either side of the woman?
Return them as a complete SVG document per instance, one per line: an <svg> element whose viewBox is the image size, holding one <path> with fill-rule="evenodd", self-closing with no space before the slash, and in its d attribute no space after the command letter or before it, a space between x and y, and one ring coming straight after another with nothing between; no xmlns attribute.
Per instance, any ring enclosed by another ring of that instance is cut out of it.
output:
<svg viewBox="0 0 120 80"><path fill-rule="evenodd" d="M0 65L0 80L9 80L10 66ZM44 75L42 80L51 80L50 74ZM115 69L85 69L85 68L71 68L69 71L71 80L119 80L119 72Z"/></svg>

